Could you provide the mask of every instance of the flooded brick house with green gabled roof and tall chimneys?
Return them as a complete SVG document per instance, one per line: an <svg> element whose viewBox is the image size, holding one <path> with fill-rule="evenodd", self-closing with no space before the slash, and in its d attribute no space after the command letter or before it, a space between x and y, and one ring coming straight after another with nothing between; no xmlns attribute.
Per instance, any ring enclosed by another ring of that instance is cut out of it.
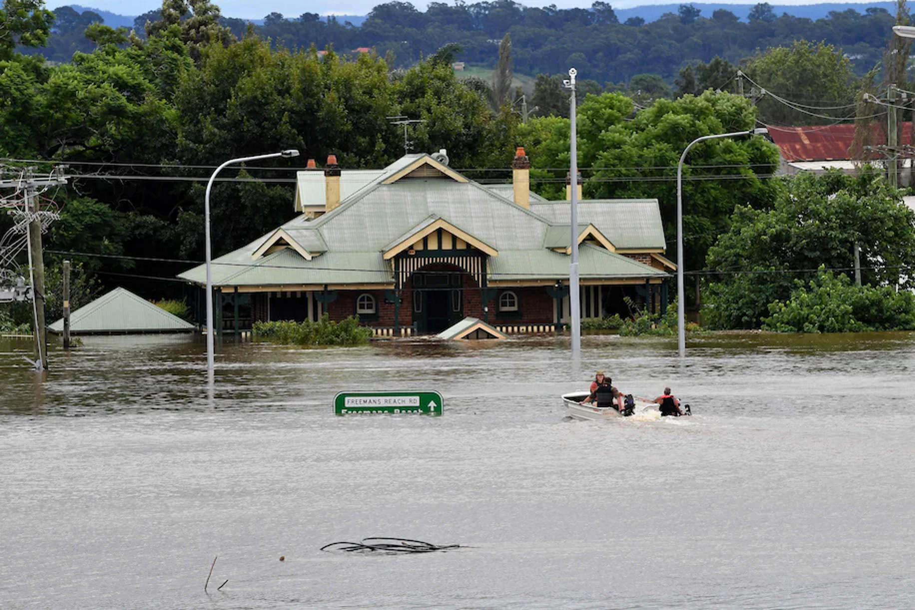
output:
<svg viewBox="0 0 915 610"><path fill-rule="evenodd" d="M531 192L522 148L511 184L475 182L441 153L372 170L309 159L296 183L295 219L212 262L218 330L327 313L378 335L435 334L466 316L519 333L570 317L569 202ZM583 317L625 315L624 297L666 306L674 266L657 199L581 200L576 236ZM178 277L205 286L205 266Z"/></svg>

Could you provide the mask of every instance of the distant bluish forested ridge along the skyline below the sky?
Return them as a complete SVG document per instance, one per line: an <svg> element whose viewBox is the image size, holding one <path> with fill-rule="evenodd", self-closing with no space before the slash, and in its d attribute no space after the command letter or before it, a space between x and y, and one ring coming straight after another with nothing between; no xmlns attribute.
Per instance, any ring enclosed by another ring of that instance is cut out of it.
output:
<svg viewBox="0 0 915 610"><path fill-rule="evenodd" d="M73 51L90 51L83 30L102 18L91 11L79 13L70 6L54 11L57 20L47 48L48 59L69 61ZM135 31L143 36L145 23L161 18L150 11L135 19ZM833 11L821 19L776 15L771 5L759 4L747 21L727 9L705 15L692 5L680 5L676 13L643 23L634 17L620 23L612 5L597 1L590 8L557 9L554 6L524 6L512 0L449 5L431 3L425 11L406 2L375 6L360 27L316 13L264 16L261 26L243 19L221 16L221 25L242 37L249 27L269 38L274 46L318 49L332 46L339 53L355 48L374 48L395 68L413 65L447 43L458 43L457 59L492 67L498 59L498 43L511 35L514 69L529 74L556 74L576 66L583 79L628 83L638 74L656 74L672 83L679 71L694 61L708 62L716 56L737 64L758 49L790 45L799 38L824 41L842 48L863 75L882 59L894 16L885 8ZM390 53L390 54L389 54Z"/></svg>

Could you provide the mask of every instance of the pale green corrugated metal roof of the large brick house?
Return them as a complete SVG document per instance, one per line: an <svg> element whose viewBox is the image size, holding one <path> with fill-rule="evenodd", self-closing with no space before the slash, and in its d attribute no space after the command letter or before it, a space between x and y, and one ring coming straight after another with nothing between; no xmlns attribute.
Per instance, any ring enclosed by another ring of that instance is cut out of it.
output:
<svg viewBox="0 0 915 610"><path fill-rule="evenodd" d="M568 246L568 202L532 198L531 209L527 209L502 197L500 188L493 189L493 185L458 182L447 176L402 177L393 184L382 184L382 177L393 176L424 156L406 155L381 174L376 172L374 182L363 185L339 207L317 219L300 215L286 222L282 229L292 239L306 251L319 253L311 261L292 249L253 259L253 252L272 231L216 259L213 284L390 284L393 264L384 261L382 253L436 219L446 220L499 252L490 258L493 279L561 278L568 274L568 256L550 250ZM323 174L320 176L323 179ZM593 224L617 248L664 247L656 199L585 200L579 205L579 220L580 230ZM581 251L582 277L664 274L601 248L583 245ZM178 277L204 284L205 268L199 265Z"/></svg>

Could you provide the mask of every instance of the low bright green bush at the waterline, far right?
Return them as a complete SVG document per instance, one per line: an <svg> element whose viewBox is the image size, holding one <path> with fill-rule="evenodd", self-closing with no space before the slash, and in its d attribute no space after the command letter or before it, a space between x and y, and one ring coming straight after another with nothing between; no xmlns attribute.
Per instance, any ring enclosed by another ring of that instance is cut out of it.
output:
<svg viewBox="0 0 915 610"><path fill-rule="evenodd" d="M769 305L763 328L780 333L848 333L915 329L915 294L891 286L856 286L845 273L823 271L795 283L785 302Z"/></svg>

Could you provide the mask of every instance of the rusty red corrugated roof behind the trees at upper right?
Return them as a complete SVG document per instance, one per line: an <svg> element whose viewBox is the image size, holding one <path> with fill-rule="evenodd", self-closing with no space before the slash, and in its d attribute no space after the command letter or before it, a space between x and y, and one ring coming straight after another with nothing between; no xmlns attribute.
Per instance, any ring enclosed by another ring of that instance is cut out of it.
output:
<svg viewBox="0 0 915 610"><path fill-rule="evenodd" d="M873 143L886 144L886 125L875 123ZM912 143L912 123L902 123L901 144ZM769 134L785 161L833 161L850 159L855 141L854 123L808 127L770 127Z"/></svg>

